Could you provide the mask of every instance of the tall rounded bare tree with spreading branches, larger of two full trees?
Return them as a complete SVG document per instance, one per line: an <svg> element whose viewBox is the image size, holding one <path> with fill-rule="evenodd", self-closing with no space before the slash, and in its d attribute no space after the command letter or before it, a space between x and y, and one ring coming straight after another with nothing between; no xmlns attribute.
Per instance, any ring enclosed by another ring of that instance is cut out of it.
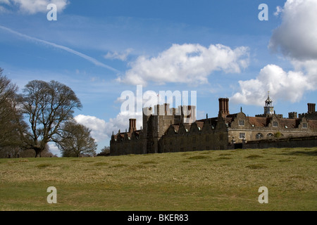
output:
<svg viewBox="0 0 317 225"><path fill-rule="evenodd" d="M74 91L56 81L33 80L23 89L23 113L30 122L25 148L35 150L40 157L47 143L61 135L61 125L73 117L76 108L82 108Z"/></svg>

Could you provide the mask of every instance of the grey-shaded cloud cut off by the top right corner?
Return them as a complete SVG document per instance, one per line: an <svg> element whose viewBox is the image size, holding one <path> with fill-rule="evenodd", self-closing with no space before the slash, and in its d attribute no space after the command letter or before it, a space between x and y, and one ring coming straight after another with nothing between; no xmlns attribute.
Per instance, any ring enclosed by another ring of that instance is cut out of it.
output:
<svg viewBox="0 0 317 225"><path fill-rule="evenodd" d="M287 0L277 13L280 27L273 31L269 48L296 60L317 60L317 1Z"/></svg>

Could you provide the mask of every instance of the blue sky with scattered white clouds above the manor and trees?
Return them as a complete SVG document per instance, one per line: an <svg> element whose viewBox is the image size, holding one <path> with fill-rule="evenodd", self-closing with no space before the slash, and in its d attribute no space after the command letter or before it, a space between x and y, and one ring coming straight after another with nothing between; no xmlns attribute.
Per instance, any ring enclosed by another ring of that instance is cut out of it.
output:
<svg viewBox="0 0 317 225"><path fill-rule="evenodd" d="M276 113L306 113L316 11L316 0L0 0L0 68L20 92L34 79L70 86L99 152L129 118L142 126L121 98L137 101L140 86L196 91L197 119L216 117L218 98L230 98L230 113L262 114L268 91Z"/></svg>

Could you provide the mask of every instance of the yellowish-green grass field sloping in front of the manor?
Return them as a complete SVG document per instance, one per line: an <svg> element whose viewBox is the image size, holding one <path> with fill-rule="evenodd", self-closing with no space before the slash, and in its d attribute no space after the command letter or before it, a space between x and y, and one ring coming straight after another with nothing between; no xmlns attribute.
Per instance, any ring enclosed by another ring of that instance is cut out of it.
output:
<svg viewBox="0 0 317 225"><path fill-rule="evenodd" d="M0 210L317 210L316 165L317 148L0 159Z"/></svg>

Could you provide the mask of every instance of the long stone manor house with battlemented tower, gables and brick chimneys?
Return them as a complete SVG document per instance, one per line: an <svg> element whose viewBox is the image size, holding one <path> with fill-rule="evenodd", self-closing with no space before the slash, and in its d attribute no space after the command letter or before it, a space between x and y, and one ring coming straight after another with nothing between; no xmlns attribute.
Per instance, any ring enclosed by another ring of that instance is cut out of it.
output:
<svg viewBox="0 0 317 225"><path fill-rule="evenodd" d="M193 105L176 109L166 103L155 105L154 112L144 108L141 129L137 129L136 119L130 119L128 131L119 130L111 136L110 155L225 150L246 148L248 143L261 143L258 148L268 148L274 147L276 140L289 143L290 139L297 139L298 143L307 138L314 140L313 145L317 143L315 103L307 104L307 113L292 112L287 118L275 114L272 103L268 95L264 113L249 117L242 110L230 114L229 99L219 98L218 117L207 115L201 120L196 120Z"/></svg>

